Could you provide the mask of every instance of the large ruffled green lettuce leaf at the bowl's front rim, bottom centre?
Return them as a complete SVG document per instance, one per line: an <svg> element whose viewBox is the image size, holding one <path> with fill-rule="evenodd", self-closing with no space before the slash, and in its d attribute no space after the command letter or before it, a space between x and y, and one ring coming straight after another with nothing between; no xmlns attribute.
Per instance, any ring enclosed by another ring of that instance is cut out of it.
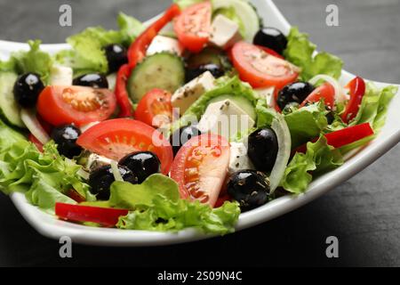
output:
<svg viewBox="0 0 400 285"><path fill-rule="evenodd" d="M115 182L111 185L110 207L129 208L116 226L121 229L177 232L196 228L203 232L234 232L240 214L236 202L210 208L198 200L180 199L179 187L165 175L151 175L141 184Z"/></svg>

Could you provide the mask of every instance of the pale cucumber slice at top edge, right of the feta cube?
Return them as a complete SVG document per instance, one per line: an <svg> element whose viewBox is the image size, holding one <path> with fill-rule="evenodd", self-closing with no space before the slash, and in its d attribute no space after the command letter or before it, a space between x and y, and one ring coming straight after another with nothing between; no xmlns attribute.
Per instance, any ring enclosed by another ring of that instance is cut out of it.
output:
<svg viewBox="0 0 400 285"><path fill-rule="evenodd" d="M252 4L244 0L212 0L212 9L228 16L238 23L241 34L246 41L252 42L253 37L259 31L260 17ZM235 14L232 14L235 12Z"/></svg>

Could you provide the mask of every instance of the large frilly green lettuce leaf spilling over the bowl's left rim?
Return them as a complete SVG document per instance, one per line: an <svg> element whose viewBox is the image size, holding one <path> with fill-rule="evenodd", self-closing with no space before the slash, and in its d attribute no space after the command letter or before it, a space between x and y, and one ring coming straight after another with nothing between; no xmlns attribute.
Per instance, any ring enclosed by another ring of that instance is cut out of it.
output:
<svg viewBox="0 0 400 285"><path fill-rule="evenodd" d="M4 123L0 126L0 190L6 194L24 192L28 201L52 212L56 202L75 203L67 193L75 189L87 200L94 200L89 185L77 175L80 166L60 156L54 142L44 152Z"/></svg>

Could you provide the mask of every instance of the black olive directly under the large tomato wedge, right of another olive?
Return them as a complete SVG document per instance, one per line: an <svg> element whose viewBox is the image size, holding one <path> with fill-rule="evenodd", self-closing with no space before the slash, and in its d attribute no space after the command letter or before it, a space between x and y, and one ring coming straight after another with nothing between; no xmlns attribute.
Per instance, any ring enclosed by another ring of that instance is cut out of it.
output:
<svg viewBox="0 0 400 285"><path fill-rule="evenodd" d="M119 164L128 167L138 177L138 183L142 183L149 175L160 172L161 162L156 154L150 151L139 151L128 154L119 160Z"/></svg>

